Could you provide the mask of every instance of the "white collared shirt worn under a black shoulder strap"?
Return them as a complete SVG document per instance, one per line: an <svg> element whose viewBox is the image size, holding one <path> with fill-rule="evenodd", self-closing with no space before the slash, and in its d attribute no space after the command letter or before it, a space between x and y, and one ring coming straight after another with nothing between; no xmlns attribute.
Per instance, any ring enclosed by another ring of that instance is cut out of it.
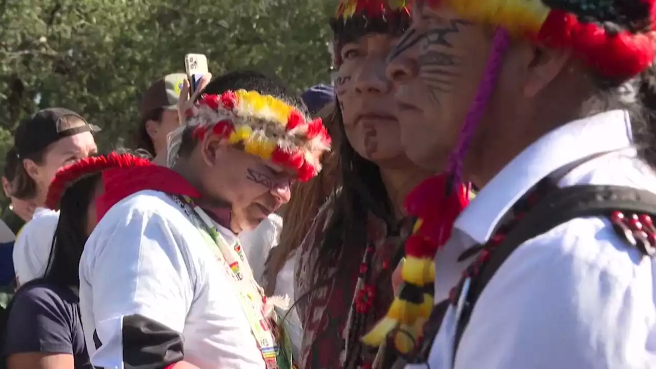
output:
<svg viewBox="0 0 656 369"><path fill-rule="evenodd" d="M541 179L573 165L558 185L621 185L656 192L636 157L628 114L571 122L526 148L478 193L436 255L436 301L501 217ZM618 238L606 219L574 219L518 248L483 291L453 359L455 309L430 352L430 369L656 368L656 262ZM426 368L426 365L407 368Z"/></svg>

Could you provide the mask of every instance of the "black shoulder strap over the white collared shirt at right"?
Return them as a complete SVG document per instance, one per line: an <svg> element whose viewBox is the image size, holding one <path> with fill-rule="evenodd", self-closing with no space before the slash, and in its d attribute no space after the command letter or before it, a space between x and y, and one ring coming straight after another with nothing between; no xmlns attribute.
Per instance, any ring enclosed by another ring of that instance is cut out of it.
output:
<svg viewBox="0 0 656 369"><path fill-rule="evenodd" d="M656 214L656 194L624 186L569 186L550 192L529 211L491 253L478 276L472 279L461 318L457 323L453 343L454 358L474 304L487 283L516 248L572 219L609 216L613 211Z"/></svg>

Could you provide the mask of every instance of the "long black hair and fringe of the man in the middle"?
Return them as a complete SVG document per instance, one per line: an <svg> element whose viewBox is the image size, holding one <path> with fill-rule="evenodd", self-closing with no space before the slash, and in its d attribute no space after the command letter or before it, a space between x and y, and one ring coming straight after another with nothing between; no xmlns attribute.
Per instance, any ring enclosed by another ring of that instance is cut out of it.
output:
<svg viewBox="0 0 656 369"><path fill-rule="evenodd" d="M335 63L340 64L340 49L344 43L354 41L369 33L382 33L399 37L410 24L407 11L391 11L386 14L367 15L360 12L351 17L338 16L331 18L333 30L333 45L335 47ZM369 214L384 221L388 230L396 229L394 206L382 183L378 165L363 158L354 150L346 138L344 118L338 103L335 104L334 119L336 132L340 137L339 163L340 183L335 186L333 211L327 227L321 237L316 238L318 244L317 272L321 278L330 279L327 271L338 265L340 255L348 244L349 252L361 255L359 251L367 247L367 220ZM331 133L333 134L333 133ZM356 248L354 250L353 248ZM319 284L327 282L321 281ZM314 286L318 288L319 286ZM309 292L308 292L309 293Z"/></svg>

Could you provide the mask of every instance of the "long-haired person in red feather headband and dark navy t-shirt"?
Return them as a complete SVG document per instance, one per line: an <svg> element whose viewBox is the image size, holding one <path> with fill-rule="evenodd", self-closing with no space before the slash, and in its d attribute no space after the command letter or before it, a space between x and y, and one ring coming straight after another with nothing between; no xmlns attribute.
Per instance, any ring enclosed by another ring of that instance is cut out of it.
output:
<svg viewBox="0 0 656 369"><path fill-rule="evenodd" d="M45 275L11 301L3 354L9 369L92 368L79 318L79 260L96 225L106 169L150 165L130 154L94 156L58 171L45 200L60 216ZM109 277L108 277L109 278Z"/></svg>

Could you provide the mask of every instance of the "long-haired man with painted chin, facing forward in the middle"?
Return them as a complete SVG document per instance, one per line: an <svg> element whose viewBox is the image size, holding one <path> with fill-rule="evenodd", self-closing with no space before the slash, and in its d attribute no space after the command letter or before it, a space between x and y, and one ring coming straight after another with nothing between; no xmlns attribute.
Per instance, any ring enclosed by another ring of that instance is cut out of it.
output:
<svg viewBox="0 0 656 369"><path fill-rule="evenodd" d="M302 368L386 367L386 351L369 350L360 337L394 299L392 272L412 228L403 199L430 175L403 152L385 76L387 55L409 21L409 9L380 0L340 1L331 20L338 104L330 126L339 135L340 167L337 193L300 246Z"/></svg>

